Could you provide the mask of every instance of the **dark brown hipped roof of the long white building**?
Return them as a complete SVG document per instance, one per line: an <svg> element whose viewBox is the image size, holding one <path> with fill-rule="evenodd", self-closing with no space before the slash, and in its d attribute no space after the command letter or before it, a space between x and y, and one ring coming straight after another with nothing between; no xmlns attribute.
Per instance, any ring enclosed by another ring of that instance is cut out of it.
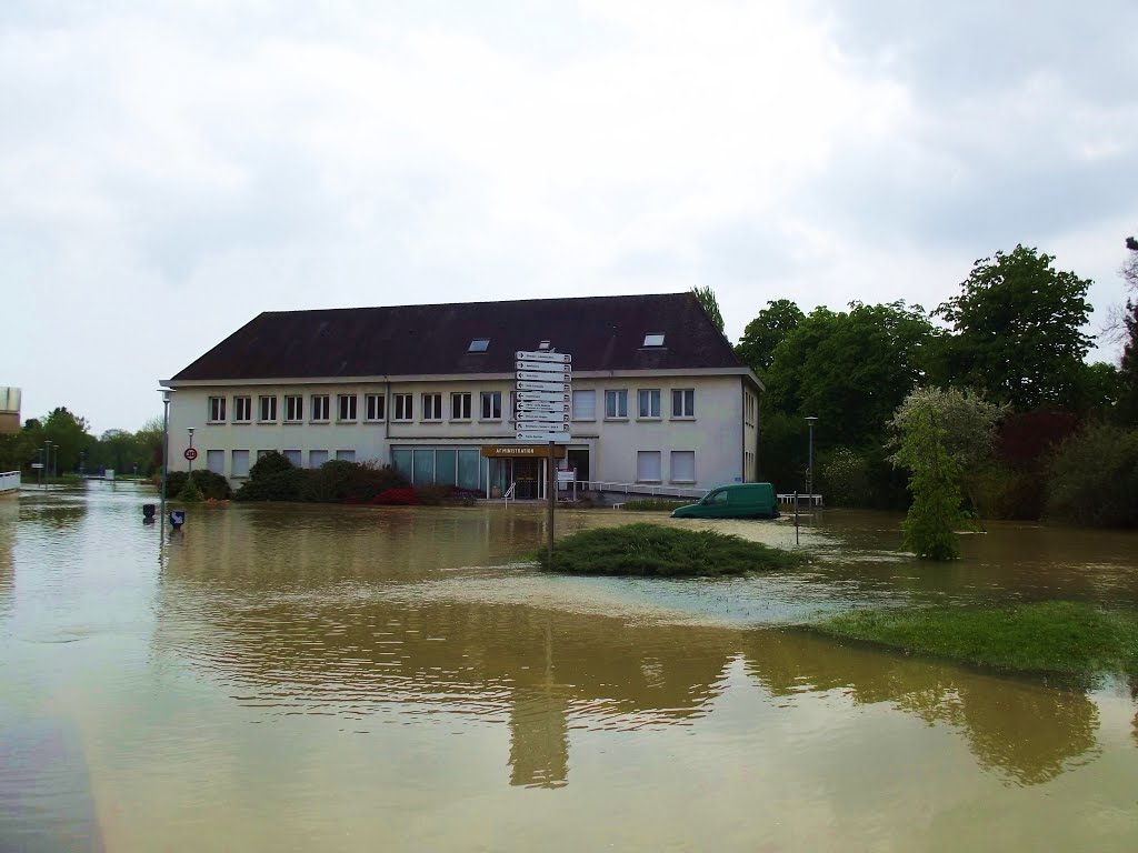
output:
<svg viewBox="0 0 1138 853"><path fill-rule="evenodd" d="M653 332L663 347L643 346ZM692 293L659 293L265 312L174 381L512 373L543 340L574 372L741 366Z"/></svg>

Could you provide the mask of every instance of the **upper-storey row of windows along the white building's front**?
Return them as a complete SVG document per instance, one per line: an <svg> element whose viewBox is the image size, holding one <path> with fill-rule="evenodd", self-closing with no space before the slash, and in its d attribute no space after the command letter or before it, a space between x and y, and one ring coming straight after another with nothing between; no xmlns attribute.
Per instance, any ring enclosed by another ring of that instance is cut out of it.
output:
<svg viewBox="0 0 1138 853"><path fill-rule="evenodd" d="M636 416L641 420L653 420L661 414L662 391L659 388L641 388L636 391ZM277 396L257 397L257 422L277 422ZM208 405L209 423L225 422L228 397L211 397ZM305 420L303 395L284 395L284 423L303 423ZM358 420L358 395L336 395L336 420L340 423L354 423ZM363 395L363 419L365 421L387 420L387 397L382 394ZM328 423L330 417L331 395L313 394L307 398L310 423ZM478 395L478 417L481 421L502 420L502 391L480 391ZM511 392L511 407L513 394ZM424 392L420 395L421 420L443 421L443 395ZM473 394L455 391L451 395L451 421L471 421ZM605 420L624 420L628 417L628 390L617 389L604 392ZM671 417L695 417L695 389L671 389ZM596 420L596 391L582 390L572 394L572 419L575 421ZM414 395L391 395L391 420L414 420ZM233 397L233 423L250 423L253 421L253 397Z"/></svg>

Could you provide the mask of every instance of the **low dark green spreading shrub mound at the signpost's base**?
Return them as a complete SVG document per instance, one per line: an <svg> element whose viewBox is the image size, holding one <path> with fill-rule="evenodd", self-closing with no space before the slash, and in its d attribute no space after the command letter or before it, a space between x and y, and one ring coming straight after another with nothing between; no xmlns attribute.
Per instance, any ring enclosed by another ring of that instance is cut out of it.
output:
<svg viewBox="0 0 1138 853"><path fill-rule="evenodd" d="M712 530L625 524L571 533L553 546L543 569L574 574L717 577L799 565L803 557Z"/></svg>

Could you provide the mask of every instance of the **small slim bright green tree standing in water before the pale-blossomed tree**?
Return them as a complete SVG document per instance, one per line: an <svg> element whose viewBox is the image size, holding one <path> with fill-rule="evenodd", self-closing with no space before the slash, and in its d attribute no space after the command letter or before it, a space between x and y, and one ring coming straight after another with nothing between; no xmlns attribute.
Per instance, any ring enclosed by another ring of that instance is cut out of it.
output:
<svg viewBox="0 0 1138 853"><path fill-rule="evenodd" d="M905 421L897 461L909 470L913 504L901 529L905 547L926 560L960 555L957 528L966 523L960 510L960 464L945 446L946 431L931 405L915 407Z"/></svg>

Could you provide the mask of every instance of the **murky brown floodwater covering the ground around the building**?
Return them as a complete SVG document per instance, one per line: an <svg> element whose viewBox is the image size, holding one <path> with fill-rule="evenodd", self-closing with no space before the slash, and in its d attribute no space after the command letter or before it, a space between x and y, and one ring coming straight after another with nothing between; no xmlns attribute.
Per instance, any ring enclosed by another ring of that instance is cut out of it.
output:
<svg viewBox="0 0 1138 853"><path fill-rule="evenodd" d="M1133 535L990 525L937 566L899 516L826 511L801 570L648 581L535 571L539 507L230 504L163 536L152 499L0 500L2 851L1138 848L1131 685L794 628L1135 606Z"/></svg>

